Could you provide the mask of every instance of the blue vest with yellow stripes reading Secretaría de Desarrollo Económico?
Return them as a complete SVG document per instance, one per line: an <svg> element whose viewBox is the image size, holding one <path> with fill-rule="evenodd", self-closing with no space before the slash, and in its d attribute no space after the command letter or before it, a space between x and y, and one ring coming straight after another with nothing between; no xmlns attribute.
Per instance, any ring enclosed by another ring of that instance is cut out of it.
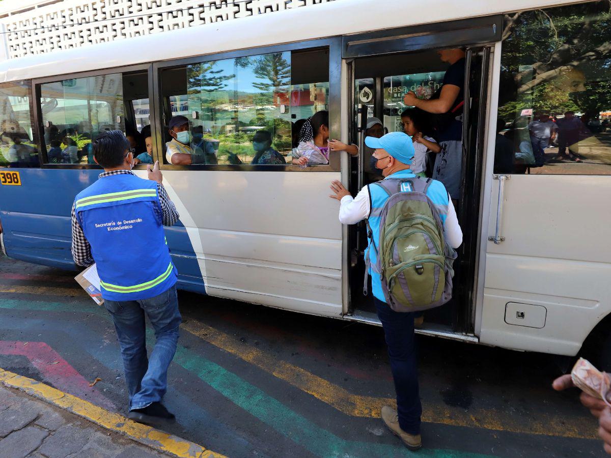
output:
<svg viewBox="0 0 611 458"><path fill-rule="evenodd" d="M130 173L100 178L75 199L108 300L157 296L176 283L157 183Z"/></svg>

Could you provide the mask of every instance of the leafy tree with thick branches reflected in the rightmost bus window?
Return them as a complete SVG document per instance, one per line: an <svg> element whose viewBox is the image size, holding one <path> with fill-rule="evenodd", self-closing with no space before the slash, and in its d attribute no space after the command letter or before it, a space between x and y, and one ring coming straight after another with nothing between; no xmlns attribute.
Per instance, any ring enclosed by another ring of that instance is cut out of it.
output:
<svg viewBox="0 0 611 458"><path fill-rule="evenodd" d="M611 2L505 16L499 115L551 114L611 107Z"/></svg>

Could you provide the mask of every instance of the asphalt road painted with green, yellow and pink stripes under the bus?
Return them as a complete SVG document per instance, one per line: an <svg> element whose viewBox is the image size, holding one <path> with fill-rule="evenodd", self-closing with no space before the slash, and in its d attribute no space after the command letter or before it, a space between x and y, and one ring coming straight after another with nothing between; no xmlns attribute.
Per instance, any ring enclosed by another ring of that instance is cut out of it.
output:
<svg viewBox="0 0 611 458"><path fill-rule="evenodd" d="M73 272L0 256L0 368L126 413L106 310ZM169 432L232 457L411 456L379 419L394 395L381 329L191 293L178 299L184 322L165 398L178 424ZM549 355L418 343L418 456L604 456L577 392L551 389L560 370Z"/></svg>

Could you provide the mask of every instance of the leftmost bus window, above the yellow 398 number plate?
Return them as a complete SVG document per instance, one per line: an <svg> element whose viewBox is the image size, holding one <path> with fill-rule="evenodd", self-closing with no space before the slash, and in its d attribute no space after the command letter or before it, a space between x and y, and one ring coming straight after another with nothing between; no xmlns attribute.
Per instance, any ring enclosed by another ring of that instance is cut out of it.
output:
<svg viewBox="0 0 611 458"><path fill-rule="evenodd" d="M0 85L0 168L38 167L30 114L29 81Z"/></svg>

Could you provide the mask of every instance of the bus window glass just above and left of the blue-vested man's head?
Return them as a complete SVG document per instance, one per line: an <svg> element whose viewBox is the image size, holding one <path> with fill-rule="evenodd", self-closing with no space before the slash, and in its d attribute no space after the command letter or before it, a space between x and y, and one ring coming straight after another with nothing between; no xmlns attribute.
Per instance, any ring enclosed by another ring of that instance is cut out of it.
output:
<svg viewBox="0 0 611 458"><path fill-rule="evenodd" d="M40 85L47 164L95 164L91 142L125 131L122 75L88 76Z"/></svg>

